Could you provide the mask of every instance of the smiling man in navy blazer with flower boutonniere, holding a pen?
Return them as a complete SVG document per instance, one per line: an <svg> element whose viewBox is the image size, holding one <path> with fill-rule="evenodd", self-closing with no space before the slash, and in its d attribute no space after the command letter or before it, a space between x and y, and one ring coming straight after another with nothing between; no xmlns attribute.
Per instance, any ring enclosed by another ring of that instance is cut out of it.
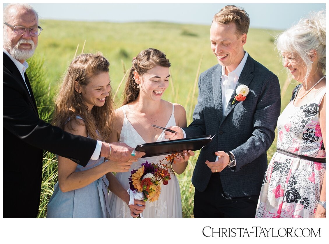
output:
<svg viewBox="0 0 329 244"><path fill-rule="evenodd" d="M249 22L244 9L234 5L215 14L210 42L219 64L199 77L198 103L189 127L170 127L178 134L165 131L170 140L183 138L184 133L216 134L201 149L193 172L196 218L255 217L266 151L280 114L280 85L243 50ZM243 85L246 93L240 89ZM235 99L237 89L242 100Z"/></svg>

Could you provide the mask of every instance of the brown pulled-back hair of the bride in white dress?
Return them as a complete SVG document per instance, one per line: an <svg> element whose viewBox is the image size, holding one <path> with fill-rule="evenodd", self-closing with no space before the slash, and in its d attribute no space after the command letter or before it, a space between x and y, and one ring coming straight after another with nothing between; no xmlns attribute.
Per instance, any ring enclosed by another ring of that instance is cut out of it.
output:
<svg viewBox="0 0 329 244"><path fill-rule="evenodd" d="M123 104L128 104L135 101L139 95L139 88L134 78L134 71L142 76L149 69L159 65L161 67L170 67L169 59L166 58L165 54L158 49L148 48L141 51L136 58L132 61L133 66L130 68L129 75L125 84L123 95Z"/></svg>

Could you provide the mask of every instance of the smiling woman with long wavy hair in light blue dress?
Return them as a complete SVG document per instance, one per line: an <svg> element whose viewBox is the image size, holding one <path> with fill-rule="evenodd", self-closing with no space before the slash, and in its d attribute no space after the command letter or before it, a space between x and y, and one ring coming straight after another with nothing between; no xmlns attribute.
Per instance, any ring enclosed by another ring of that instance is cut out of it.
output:
<svg viewBox="0 0 329 244"><path fill-rule="evenodd" d="M109 65L99 53L79 55L71 62L56 100L55 125L74 135L109 138L113 118ZM101 157L83 167L57 157L58 182L47 205L47 218L105 218L111 212L107 189L129 202L126 189L109 176L109 172L127 171L129 164L104 162ZM129 205L134 212L144 208L137 206L144 202L135 203Z"/></svg>

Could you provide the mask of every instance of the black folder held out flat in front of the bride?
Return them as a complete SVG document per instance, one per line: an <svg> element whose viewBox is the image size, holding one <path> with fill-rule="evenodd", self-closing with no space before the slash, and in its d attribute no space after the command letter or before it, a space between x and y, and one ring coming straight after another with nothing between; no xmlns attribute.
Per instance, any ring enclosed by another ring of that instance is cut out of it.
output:
<svg viewBox="0 0 329 244"><path fill-rule="evenodd" d="M175 152L183 152L183 150L199 150L207 143L210 143L212 139L213 137L210 135L204 135L172 141L144 143L137 145L135 150L145 152L146 154L142 158L146 158Z"/></svg>

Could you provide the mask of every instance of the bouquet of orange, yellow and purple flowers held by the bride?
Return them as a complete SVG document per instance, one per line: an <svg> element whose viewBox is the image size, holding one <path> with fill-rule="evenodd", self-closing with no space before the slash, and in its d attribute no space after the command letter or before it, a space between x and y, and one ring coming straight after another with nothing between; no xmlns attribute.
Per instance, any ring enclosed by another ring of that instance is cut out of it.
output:
<svg viewBox="0 0 329 244"><path fill-rule="evenodd" d="M161 193L161 183L168 185L171 179L168 168L179 153L168 155L160 160L158 164L145 163L141 164L138 169L133 169L129 177L129 189L127 190L130 195L129 204L134 204L134 199L154 202L159 199ZM141 214L139 215L142 218Z"/></svg>

